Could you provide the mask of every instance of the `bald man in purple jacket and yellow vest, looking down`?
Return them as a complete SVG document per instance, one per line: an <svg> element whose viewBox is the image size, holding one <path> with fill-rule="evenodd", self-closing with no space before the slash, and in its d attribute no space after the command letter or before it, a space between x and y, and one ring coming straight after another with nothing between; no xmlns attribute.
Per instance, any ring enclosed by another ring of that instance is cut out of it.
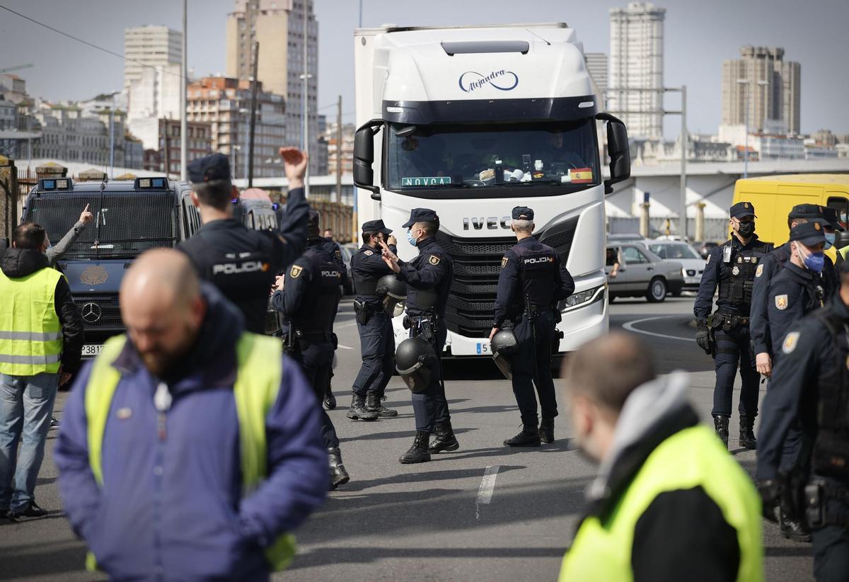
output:
<svg viewBox="0 0 849 582"><path fill-rule="evenodd" d="M65 406L71 526L111 579L268 579L328 490L312 388L179 251L133 263L121 316Z"/></svg>

